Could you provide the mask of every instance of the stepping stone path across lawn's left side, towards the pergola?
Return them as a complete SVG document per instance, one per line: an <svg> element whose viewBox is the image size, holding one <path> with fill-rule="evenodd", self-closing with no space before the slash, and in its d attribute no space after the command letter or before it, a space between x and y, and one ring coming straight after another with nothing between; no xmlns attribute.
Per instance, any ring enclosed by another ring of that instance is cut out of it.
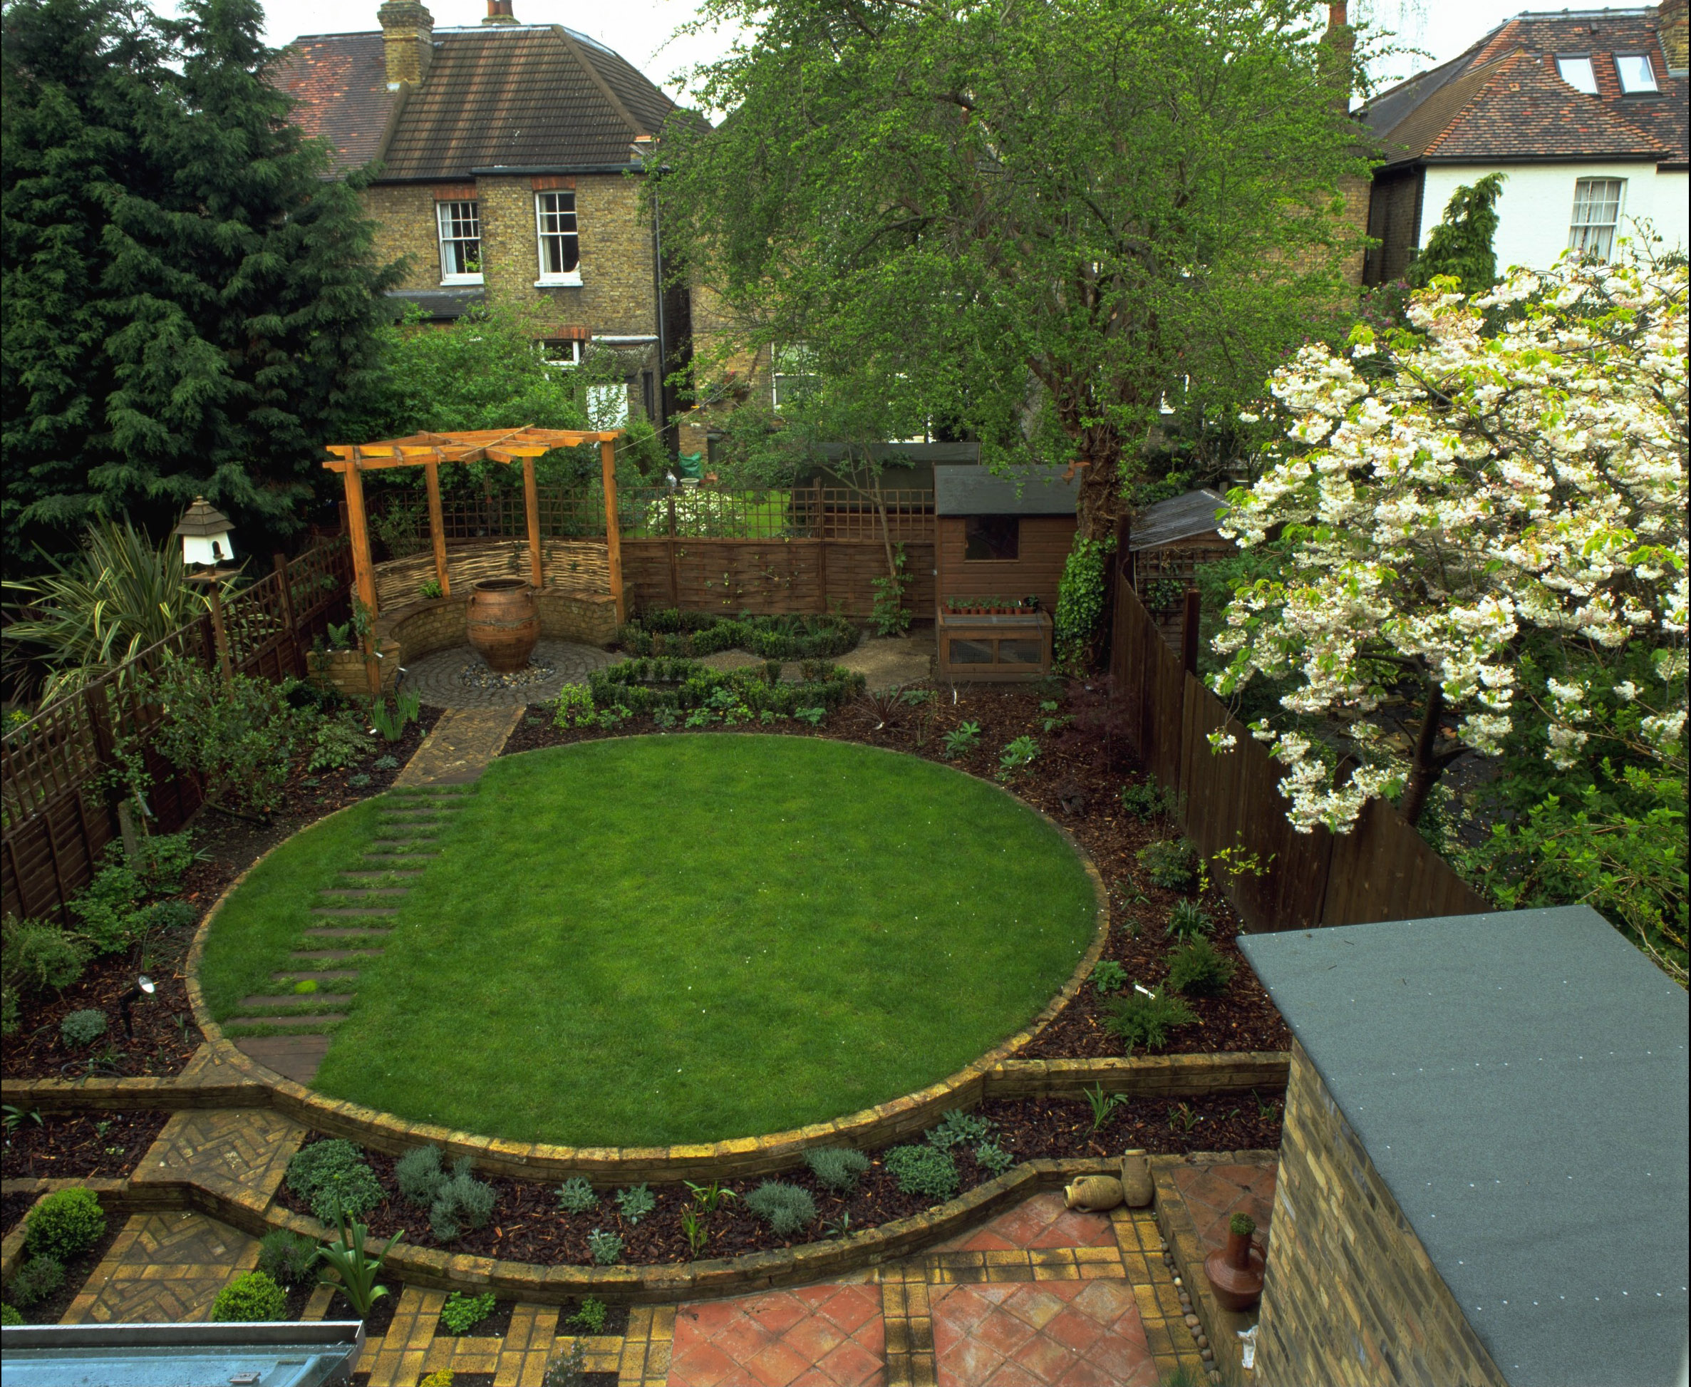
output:
<svg viewBox="0 0 1691 1387"><path fill-rule="evenodd" d="M382 797L370 846L318 893L287 968L271 974L277 984L316 983L316 991L244 998L240 1015L223 1022L242 1052L294 1083L316 1077L333 1028L347 1020L357 996L364 964L382 956L399 902L440 856L441 831L475 793L475 780L521 715L521 709L451 709L441 715ZM259 1028L265 1033L254 1033Z"/></svg>

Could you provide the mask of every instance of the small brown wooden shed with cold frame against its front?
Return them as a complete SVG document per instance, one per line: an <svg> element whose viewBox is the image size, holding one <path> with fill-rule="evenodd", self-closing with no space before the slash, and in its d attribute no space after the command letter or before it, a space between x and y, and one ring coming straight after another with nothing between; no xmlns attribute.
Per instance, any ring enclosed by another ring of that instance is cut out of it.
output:
<svg viewBox="0 0 1691 1387"><path fill-rule="evenodd" d="M935 638L942 680L1037 680L1052 668L1057 585L1079 475L1064 467L933 469Z"/></svg>

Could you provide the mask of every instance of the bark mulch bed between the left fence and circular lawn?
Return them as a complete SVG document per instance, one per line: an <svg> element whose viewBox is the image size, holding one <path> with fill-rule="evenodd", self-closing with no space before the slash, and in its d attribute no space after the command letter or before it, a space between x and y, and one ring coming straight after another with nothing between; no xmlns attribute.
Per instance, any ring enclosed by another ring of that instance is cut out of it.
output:
<svg viewBox="0 0 1691 1387"><path fill-rule="evenodd" d="M382 743L374 756L345 770L320 771L311 776L296 768L284 790L282 805L262 824L201 805L189 819L188 832L193 834L193 846L203 856L188 868L178 896L193 905L198 917L181 929L154 934L147 940L144 961L135 954L90 959L81 979L63 993L25 996L24 1025L5 1042L0 1074L8 1079L181 1074L205 1039L194 1025L183 973L205 912L216 903L230 881L276 844L337 809L387 790L438 721L440 709L423 709L421 719L409 724L397 743ZM374 761L382 756L392 756L397 765L392 770L375 770ZM369 776L370 783L350 785L355 775ZM135 974L142 971L152 978L157 990L135 1003L132 1011L135 1035L130 1039L118 1020L117 1000L134 986ZM105 1011L110 1030L93 1047L73 1050L59 1039L59 1022L71 1011L81 1010Z"/></svg>

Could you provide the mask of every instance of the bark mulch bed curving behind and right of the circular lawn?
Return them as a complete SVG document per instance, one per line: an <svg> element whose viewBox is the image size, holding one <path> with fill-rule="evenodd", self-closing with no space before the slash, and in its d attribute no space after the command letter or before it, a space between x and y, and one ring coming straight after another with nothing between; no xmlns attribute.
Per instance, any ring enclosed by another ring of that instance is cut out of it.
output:
<svg viewBox="0 0 1691 1387"><path fill-rule="evenodd" d="M1067 687L1052 682L1043 688L959 687L955 702L942 690L939 704L927 715L908 705L886 709L857 700L815 731L798 722L752 726L746 731L883 746L944 761L982 780L996 780L1001 748L1015 737L1032 736L1040 754L1026 773L1010 781L1010 790L1062 824L1092 856L1109 888L1111 930L1103 956L1121 962L1128 990L1133 983L1155 988L1168 976L1170 940L1163 930L1168 912L1182 896L1153 885L1135 854L1150 842L1177 837L1179 829L1163 819L1141 822L1123 810L1121 790L1148 776L1119 734L1119 709L1108 700L1106 680ZM979 724L979 743L974 751L947 759L944 736L964 722ZM656 724L646 717L624 722L614 734L597 729L563 731L551 726L548 705L531 704L502 754L653 731L658 731ZM714 724L709 731L732 729ZM1290 1049L1290 1030L1238 951L1241 925L1233 907L1216 890L1209 890L1201 903L1214 922L1211 942L1236 971L1221 996L1189 998L1197 1022L1170 1032L1163 1052ZM1101 996L1092 986L1082 988L1020 1057L1091 1059L1123 1054L1121 1040L1103 1023L1114 996L1119 993Z"/></svg>

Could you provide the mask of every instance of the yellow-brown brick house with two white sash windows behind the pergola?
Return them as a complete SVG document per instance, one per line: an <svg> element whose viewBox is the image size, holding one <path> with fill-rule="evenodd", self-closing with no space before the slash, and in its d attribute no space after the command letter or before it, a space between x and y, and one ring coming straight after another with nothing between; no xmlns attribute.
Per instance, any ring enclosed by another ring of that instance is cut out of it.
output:
<svg viewBox="0 0 1691 1387"><path fill-rule="evenodd" d="M435 29L418 0L386 0L380 29L294 39L272 79L337 173L375 166L375 250L406 264L396 310L451 321L528 304L555 359L616 352L627 391L599 392L595 423L629 409L661 423L692 304L666 284L641 176L676 105L585 34L519 24L512 0L487 8L473 29Z"/></svg>

